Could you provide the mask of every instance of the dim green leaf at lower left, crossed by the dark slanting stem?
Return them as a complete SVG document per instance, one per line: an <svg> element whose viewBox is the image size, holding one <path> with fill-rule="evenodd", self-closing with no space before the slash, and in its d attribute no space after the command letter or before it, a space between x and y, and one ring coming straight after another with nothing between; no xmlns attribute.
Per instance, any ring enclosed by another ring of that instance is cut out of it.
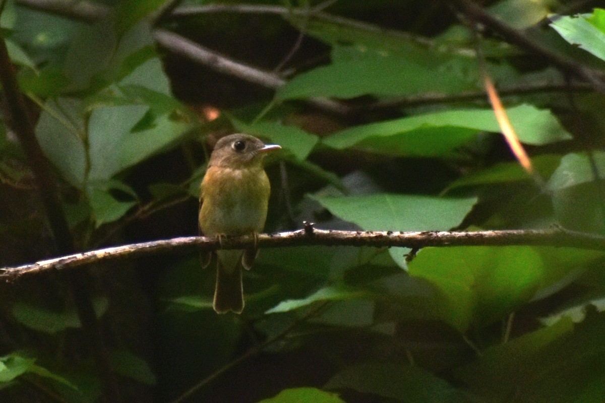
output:
<svg viewBox="0 0 605 403"><path fill-rule="evenodd" d="M97 317L107 311L109 301L107 298L94 298L93 306ZM81 326L76 308L67 311L51 311L47 308L33 306L26 303L15 303L13 306L15 319L30 329L55 334L65 329L77 329Z"/></svg>

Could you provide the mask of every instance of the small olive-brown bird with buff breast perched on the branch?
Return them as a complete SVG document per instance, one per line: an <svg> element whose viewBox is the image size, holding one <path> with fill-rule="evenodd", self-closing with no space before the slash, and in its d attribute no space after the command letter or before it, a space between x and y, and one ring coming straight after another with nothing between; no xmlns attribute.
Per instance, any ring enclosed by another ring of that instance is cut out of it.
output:
<svg viewBox="0 0 605 403"><path fill-rule="evenodd" d="M254 235L263 231L267 218L270 184L263 169L264 156L280 149L247 134L221 138L212 151L201 181L200 231L205 236ZM219 314L244 309L242 270L250 269L256 248L218 250L214 310ZM208 266L212 253L203 253Z"/></svg>

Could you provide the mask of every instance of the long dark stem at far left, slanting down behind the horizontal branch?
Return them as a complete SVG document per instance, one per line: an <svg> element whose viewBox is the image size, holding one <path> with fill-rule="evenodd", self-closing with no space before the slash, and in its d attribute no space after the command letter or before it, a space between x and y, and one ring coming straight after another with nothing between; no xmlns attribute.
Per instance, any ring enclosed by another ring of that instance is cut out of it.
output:
<svg viewBox="0 0 605 403"><path fill-rule="evenodd" d="M25 155L27 155L42 204L46 210L48 225L53 233L57 251L60 254L73 253L75 250L73 237L59 201L57 185L51 174L52 169L38 144L38 140L36 140L34 126L25 106L25 100L19 91L4 39L0 40L0 82L2 82L7 103L6 109L9 115L7 120L19 139ZM98 373L103 382L105 397L108 401L119 402L117 382L103 346L99 322L88 293L86 279L87 272L71 273L68 276L80 323L82 323L82 328L87 334L93 353L96 356L99 366Z"/></svg>

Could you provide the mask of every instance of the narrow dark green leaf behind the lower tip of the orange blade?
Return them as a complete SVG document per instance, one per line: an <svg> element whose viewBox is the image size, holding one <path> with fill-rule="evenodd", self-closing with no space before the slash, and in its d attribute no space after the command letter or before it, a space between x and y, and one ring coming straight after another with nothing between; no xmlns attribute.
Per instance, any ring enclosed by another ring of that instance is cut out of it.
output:
<svg viewBox="0 0 605 403"><path fill-rule="evenodd" d="M554 154L538 155L531 159L532 166L542 178L549 178L560 164L561 156ZM497 163L462 178L456 179L444 192L463 186L502 184L515 181L531 181L532 177L518 162Z"/></svg>

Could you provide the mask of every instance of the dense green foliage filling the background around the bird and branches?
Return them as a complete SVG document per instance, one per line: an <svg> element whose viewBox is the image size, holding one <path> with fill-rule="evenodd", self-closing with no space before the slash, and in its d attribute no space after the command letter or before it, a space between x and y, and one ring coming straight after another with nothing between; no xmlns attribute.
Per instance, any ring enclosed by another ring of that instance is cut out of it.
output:
<svg viewBox="0 0 605 403"><path fill-rule="evenodd" d="M499 134L473 37L446 2L341 0L305 13L319 3L247 1L293 9L155 21L169 2L128 0L103 2L108 12L92 23L16 3L7 2L2 34L81 250L196 235L209 144L232 131L283 147L267 160L269 232L310 221L605 235L603 94L565 88L548 57L486 30L486 68L508 94L538 187ZM540 21L559 2L488 3L522 34L603 74L605 10L549 25ZM305 37L280 72L286 84L270 92L156 47L158 28L267 71L299 31ZM351 112L323 111L317 98ZM209 121L208 106L221 116ZM3 119L2 266L54 256L9 127ZM262 250L244 275L240 316L212 311L214 269L197 256L98 265L89 286L125 401L173 401L199 382L189 401L603 400L603 253L519 245L408 254ZM0 401L102 401L62 281L48 273L0 285Z"/></svg>

